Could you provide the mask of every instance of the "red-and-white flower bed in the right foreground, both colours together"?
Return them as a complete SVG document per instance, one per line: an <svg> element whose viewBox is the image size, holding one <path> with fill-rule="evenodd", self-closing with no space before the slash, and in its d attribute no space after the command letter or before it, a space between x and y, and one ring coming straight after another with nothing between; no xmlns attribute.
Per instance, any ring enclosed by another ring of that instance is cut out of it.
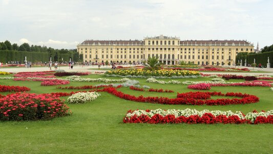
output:
<svg viewBox="0 0 273 154"><path fill-rule="evenodd" d="M185 110L129 110L123 118L124 123L150 124L273 124L273 110L267 112L249 112L244 115L240 111L197 111Z"/></svg>

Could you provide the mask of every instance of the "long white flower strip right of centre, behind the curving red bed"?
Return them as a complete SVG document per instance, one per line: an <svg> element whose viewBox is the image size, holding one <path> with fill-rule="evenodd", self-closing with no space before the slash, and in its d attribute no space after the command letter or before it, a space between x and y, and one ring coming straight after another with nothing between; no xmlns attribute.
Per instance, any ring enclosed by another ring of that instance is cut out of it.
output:
<svg viewBox="0 0 273 154"><path fill-rule="evenodd" d="M219 79L219 78L215 78L212 81L177 81L177 80L171 80L168 82L165 81L159 81L157 79L154 78L149 78L146 80L146 82L150 82L150 83L158 83L158 84L181 84L181 85L195 85L195 84L201 84L201 83L211 83L211 84L230 84L230 82L225 82L223 79Z"/></svg>

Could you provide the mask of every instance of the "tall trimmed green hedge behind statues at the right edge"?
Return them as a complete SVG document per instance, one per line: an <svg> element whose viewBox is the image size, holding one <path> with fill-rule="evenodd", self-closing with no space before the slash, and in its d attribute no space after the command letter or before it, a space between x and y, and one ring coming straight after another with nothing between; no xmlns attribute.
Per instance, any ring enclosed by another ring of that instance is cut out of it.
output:
<svg viewBox="0 0 273 154"><path fill-rule="evenodd" d="M253 64L255 59L257 66L258 64L261 63L264 67L266 67L267 57L269 57L269 62L271 64L271 67L273 67L273 51L264 52L264 53L256 53L256 54L247 54L243 56L236 56L236 62L242 59L242 63L243 63L242 65L244 66L245 59L247 64Z"/></svg>

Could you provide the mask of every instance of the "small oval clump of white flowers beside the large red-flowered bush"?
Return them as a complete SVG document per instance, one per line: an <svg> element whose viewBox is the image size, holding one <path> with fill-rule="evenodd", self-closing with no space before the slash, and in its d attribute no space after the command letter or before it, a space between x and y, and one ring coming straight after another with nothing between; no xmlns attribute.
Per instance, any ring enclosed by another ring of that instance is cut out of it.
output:
<svg viewBox="0 0 273 154"><path fill-rule="evenodd" d="M91 102L97 99L100 93L97 92L78 92L72 94L67 101L71 104L81 104L86 102Z"/></svg>

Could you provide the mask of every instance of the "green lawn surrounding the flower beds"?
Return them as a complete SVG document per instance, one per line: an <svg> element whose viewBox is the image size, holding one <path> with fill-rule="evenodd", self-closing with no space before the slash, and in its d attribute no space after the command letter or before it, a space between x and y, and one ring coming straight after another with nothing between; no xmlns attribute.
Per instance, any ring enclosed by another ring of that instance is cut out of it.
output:
<svg viewBox="0 0 273 154"><path fill-rule="evenodd" d="M2 75L3 76L3 75ZM101 78L101 75L88 75ZM105 77L103 77L105 78ZM110 78L121 79L121 78ZM122 87L134 95L175 98L177 92L193 91L185 85L160 85L136 79L140 85L174 90L175 93L141 92ZM163 80L163 79L162 79ZM170 79L164 79L169 81ZM175 79L203 81L210 78ZM230 80L238 82L242 80ZM96 85L72 82L69 86ZM40 82L0 80L0 85L31 88L33 93L68 92ZM66 85L63 85L66 86ZM77 91L77 90L74 90ZM101 97L86 104L68 104L72 115L50 121L0 122L1 153L272 153L273 126L234 124L123 124L130 109L209 109L251 112L273 109L273 92L268 87L212 87L209 91L255 94L259 103L227 106L191 106L139 103L101 92ZM7 93L1 93L7 94ZM64 97L67 99L68 97Z"/></svg>

